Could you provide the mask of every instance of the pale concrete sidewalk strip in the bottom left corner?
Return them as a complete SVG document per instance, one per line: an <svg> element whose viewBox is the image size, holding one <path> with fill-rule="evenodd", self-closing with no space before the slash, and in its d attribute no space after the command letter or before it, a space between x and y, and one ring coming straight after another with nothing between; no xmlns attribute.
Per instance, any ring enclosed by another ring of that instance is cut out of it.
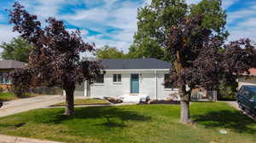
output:
<svg viewBox="0 0 256 143"><path fill-rule="evenodd" d="M49 140L34 140L34 139L0 134L0 143L61 143L61 142L49 141Z"/></svg>

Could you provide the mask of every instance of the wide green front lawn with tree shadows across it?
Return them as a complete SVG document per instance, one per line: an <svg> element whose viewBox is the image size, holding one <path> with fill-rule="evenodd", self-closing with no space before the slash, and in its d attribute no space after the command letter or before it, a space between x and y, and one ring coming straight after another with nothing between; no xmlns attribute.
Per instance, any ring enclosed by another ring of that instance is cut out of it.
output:
<svg viewBox="0 0 256 143"><path fill-rule="evenodd" d="M39 109L0 118L0 134L76 143L255 143L256 123L225 103L193 103L195 124L179 123L179 106ZM219 134L226 129L228 134Z"/></svg>

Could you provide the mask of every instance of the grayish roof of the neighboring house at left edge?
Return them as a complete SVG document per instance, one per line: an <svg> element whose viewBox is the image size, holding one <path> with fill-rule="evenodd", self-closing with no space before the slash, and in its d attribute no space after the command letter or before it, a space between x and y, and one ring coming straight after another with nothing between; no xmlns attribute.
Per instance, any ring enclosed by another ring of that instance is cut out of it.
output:
<svg viewBox="0 0 256 143"><path fill-rule="evenodd" d="M26 66L26 63L16 60L0 60L0 69L16 69Z"/></svg>

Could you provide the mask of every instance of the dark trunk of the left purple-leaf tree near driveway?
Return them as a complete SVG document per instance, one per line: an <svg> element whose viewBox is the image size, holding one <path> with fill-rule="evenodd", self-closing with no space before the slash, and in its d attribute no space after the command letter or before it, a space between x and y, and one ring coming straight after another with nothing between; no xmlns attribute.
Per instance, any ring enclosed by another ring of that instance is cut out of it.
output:
<svg viewBox="0 0 256 143"><path fill-rule="evenodd" d="M73 93L74 88L65 89L66 92L66 109L65 109L65 115L71 116L74 114L74 103L73 103Z"/></svg>

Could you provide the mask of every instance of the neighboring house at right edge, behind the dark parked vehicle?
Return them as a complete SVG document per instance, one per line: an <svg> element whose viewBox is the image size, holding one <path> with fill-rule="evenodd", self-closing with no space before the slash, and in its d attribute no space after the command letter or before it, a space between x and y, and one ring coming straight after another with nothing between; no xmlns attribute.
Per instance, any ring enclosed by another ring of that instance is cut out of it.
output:
<svg viewBox="0 0 256 143"><path fill-rule="evenodd" d="M239 89L241 88L241 85L256 85L256 69L252 68L249 72L250 75L247 76L247 74L245 74L238 79Z"/></svg>

